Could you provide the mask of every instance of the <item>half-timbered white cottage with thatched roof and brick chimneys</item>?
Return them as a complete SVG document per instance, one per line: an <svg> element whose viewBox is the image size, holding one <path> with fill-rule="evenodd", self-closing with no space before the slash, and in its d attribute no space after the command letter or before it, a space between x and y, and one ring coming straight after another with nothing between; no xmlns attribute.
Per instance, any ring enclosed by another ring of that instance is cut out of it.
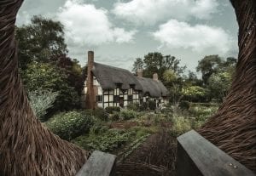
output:
<svg viewBox="0 0 256 176"><path fill-rule="evenodd" d="M124 107L129 103L154 100L156 105L167 102L167 89L155 73L153 79L137 77L125 69L94 62L94 53L88 52L88 72L82 93L82 106L86 109L108 106Z"/></svg>

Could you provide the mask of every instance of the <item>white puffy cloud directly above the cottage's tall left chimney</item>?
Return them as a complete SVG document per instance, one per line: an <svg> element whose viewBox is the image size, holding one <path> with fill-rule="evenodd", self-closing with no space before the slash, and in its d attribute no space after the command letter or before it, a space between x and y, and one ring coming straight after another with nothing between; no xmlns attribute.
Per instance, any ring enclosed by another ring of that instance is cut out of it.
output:
<svg viewBox="0 0 256 176"><path fill-rule="evenodd" d="M65 26L67 43L71 45L129 43L137 32L114 27L108 20L108 10L76 0L67 0L56 16Z"/></svg>

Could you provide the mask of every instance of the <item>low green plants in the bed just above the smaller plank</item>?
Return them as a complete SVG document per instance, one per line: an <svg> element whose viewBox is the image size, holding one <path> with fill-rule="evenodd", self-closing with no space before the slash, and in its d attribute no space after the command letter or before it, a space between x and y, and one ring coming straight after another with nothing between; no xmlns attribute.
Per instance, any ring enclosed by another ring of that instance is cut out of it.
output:
<svg viewBox="0 0 256 176"><path fill-rule="evenodd" d="M113 151L130 139L131 133L124 130L110 129L106 133L79 136L73 143L85 150Z"/></svg>

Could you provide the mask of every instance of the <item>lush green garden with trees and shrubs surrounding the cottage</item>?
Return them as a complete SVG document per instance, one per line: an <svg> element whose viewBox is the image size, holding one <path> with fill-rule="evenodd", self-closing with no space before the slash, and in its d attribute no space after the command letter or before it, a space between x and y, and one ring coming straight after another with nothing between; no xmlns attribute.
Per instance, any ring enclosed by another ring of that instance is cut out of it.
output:
<svg viewBox="0 0 256 176"><path fill-rule="evenodd" d="M132 72L143 68L143 77L158 73L169 92L168 105L155 109L155 102L149 101L84 110L79 97L87 66L68 57L64 35L60 22L40 16L15 28L20 76L38 120L84 150L118 156L119 175L129 167L137 173L150 171L147 175L173 173L177 136L200 128L218 110L228 94L236 59L205 56L195 73L175 56L149 52L135 59Z"/></svg>

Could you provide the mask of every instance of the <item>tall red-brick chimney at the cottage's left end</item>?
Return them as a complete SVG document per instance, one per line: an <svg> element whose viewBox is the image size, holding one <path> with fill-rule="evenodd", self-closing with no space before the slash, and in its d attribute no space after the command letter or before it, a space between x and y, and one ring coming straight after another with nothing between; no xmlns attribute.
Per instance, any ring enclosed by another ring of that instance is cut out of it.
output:
<svg viewBox="0 0 256 176"><path fill-rule="evenodd" d="M92 74L93 63L94 63L94 52L88 51L87 80L86 80L87 94L85 99L86 109L95 109L95 103L96 103L96 97L95 97L94 85L93 85L93 74Z"/></svg>

